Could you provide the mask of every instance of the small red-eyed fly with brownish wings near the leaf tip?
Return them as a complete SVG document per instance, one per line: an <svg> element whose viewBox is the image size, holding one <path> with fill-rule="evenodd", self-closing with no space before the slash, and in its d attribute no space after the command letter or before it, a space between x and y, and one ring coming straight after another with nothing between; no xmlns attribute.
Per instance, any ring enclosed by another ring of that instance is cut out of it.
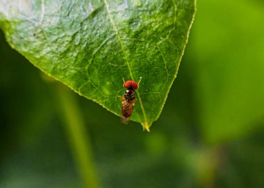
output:
<svg viewBox="0 0 264 188"><path fill-rule="evenodd" d="M136 83L134 80L128 80L126 82L124 81L123 86L126 88L126 91L124 92L123 96L119 96L122 99L121 121L124 124L129 123L129 119L133 113L135 101L138 101L138 99L135 98L135 90L138 89L140 81L141 78L138 83Z"/></svg>

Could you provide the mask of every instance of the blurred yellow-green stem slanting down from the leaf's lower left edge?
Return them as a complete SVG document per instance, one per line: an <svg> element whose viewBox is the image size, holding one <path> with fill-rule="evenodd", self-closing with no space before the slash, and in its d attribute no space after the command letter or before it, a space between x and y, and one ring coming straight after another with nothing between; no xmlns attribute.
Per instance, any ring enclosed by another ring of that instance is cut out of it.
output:
<svg viewBox="0 0 264 188"><path fill-rule="evenodd" d="M79 109L74 92L64 86L58 88L60 112L63 114L65 132L72 146L76 166L81 173L85 187L99 188L97 173L92 157L92 146L85 128L83 114Z"/></svg>

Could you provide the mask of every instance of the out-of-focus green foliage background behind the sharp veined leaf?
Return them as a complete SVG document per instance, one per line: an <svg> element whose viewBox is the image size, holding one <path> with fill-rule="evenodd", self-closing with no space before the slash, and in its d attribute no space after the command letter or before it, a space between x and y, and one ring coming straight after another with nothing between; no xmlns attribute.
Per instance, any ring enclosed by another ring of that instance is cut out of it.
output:
<svg viewBox="0 0 264 188"><path fill-rule="evenodd" d="M87 187L85 168L100 187L264 187L263 23L264 1L198 1L151 133L47 78L0 33L0 187ZM85 125L75 146L72 121Z"/></svg>

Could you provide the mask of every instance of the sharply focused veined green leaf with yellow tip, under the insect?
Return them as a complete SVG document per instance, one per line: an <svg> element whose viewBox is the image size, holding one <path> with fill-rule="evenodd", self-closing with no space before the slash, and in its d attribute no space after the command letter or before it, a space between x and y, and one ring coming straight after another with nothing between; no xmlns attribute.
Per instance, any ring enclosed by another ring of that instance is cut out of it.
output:
<svg viewBox="0 0 264 188"><path fill-rule="evenodd" d="M176 78L194 13L195 0L2 0L0 26L35 67L114 114L122 77L142 77L132 120L148 130Z"/></svg>

